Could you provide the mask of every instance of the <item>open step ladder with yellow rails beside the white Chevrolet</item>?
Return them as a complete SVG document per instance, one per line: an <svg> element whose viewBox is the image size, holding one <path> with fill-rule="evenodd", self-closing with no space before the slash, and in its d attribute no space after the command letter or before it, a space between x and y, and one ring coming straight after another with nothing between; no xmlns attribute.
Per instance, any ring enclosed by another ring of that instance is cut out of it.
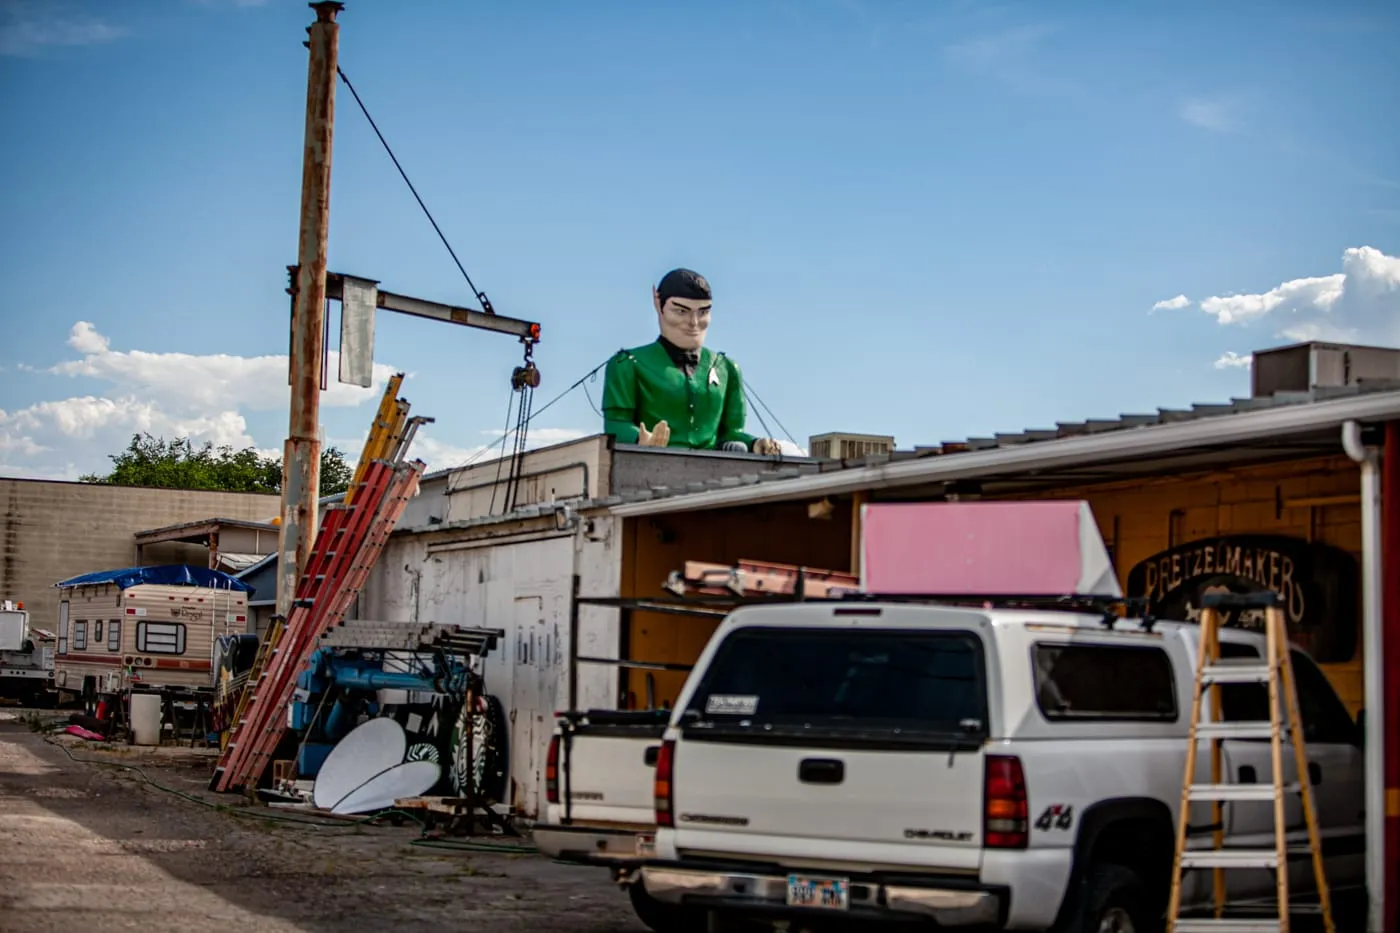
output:
<svg viewBox="0 0 1400 933"><path fill-rule="evenodd" d="M1264 635L1267 657L1222 658L1219 630L1224 625L1222 611L1264 612ZM1317 832L1317 811L1308 778L1308 749L1303 748L1302 717L1298 710L1294 667L1289 660L1288 629L1284 621L1281 601L1275 593L1231 594L1212 593L1201 600L1200 650L1196 661L1196 692L1191 700L1190 744L1186 749L1186 778L1182 785L1182 811L1176 831L1176 853L1172 864L1172 892L1168 902L1168 933L1288 933L1288 857L1310 855L1313 876L1317 883L1319 908L1327 933L1337 933L1331 919L1331 895L1327 890L1327 876L1323 871L1322 845ZM1263 684L1268 689L1268 719L1259 721L1224 721L1221 719L1221 686L1226 684ZM1210 713L1203 713L1203 699L1210 691ZM1287 721L1284 716L1287 712ZM1284 742L1291 738L1298 761L1298 780L1284 782ZM1271 745L1271 783L1238 785L1228 783L1222 775L1226 740L1268 740ZM1210 783L1196 783L1198 742L1210 742ZM1308 846L1288 845L1288 827L1284 820L1284 800L1288 794L1302 799L1303 817L1308 822ZM1189 849L1190 810L1193 803L1210 801L1211 835L1210 848ZM1225 845L1225 804L1243 801L1273 801L1274 804L1274 846L1267 849L1240 849ZM1225 916L1229 905L1225 898L1225 871L1239 869L1270 870L1277 884L1277 902L1270 908L1273 915ZM1214 915L1207 918L1183 918L1182 877L1189 870L1210 870L1214 888Z"/></svg>

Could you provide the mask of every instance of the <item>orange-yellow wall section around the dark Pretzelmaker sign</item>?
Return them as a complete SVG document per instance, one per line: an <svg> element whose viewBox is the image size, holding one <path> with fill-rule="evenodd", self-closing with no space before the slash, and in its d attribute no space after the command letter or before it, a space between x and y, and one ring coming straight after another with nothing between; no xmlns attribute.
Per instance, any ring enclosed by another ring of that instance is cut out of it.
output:
<svg viewBox="0 0 1400 933"><path fill-rule="evenodd" d="M1345 457L1215 471L1131 483L1078 486L1035 499L1084 499L1114 546L1119 583L1169 546L1229 534L1277 534L1329 544L1361 560L1361 474ZM1344 499L1345 502L1336 502ZM1289 504L1289 500L1324 500ZM1333 500L1333 502L1327 502ZM1359 605L1359 598L1358 598ZM1359 619L1358 619L1359 626ZM1359 636L1357 639L1359 646ZM1323 670L1352 714L1361 709L1361 650Z"/></svg>

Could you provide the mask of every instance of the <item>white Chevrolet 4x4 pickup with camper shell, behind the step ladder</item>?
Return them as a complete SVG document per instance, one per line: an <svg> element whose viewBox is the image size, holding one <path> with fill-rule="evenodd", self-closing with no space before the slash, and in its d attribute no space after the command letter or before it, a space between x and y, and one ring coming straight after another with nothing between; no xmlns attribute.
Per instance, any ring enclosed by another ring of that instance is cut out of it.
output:
<svg viewBox="0 0 1400 933"><path fill-rule="evenodd" d="M1065 611L736 609L664 734L647 901L676 911L675 929L711 932L1159 929L1197 635ZM1259 664L1263 636L1226 629L1222 642L1228 660ZM1361 730L1301 651L1294 667L1336 894L1364 880ZM1264 685L1222 689L1224 719L1267 719ZM1263 735L1225 742L1229 780L1271 782ZM1196 806L1193 845L1208 845L1210 804ZM1287 820L1306 843L1296 796ZM1224 831L1226 845L1271 848L1273 804L1225 804ZM1264 870L1226 878L1232 902L1273 895ZM1299 897L1313 887L1306 857L1289 878ZM1183 904L1207 901L1210 883L1189 873Z"/></svg>

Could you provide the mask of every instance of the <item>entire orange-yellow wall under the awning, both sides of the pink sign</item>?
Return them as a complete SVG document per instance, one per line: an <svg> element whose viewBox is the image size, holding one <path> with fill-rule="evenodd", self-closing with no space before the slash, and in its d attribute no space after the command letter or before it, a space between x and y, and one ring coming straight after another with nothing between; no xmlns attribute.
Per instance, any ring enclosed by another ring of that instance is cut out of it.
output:
<svg viewBox="0 0 1400 933"><path fill-rule="evenodd" d="M1361 478L1345 457L1282 465L1221 469L1130 483L1064 488L1033 499L1085 499L1103 539L1114 545L1120 583L1133 566L1169 546L1226 534L1278 534L1320 541L1361 559ZM1288 500L1336 500L1294 504ZM741 559L799 563L846 570L851 562L851 509L837 503L830 520L808 518L806 503L731 509L714 513L627 520L622 595L664 595L662 581L686 560L734 563ZM1358 621L1359 625L1359 621ZM629 657L690 664L715 623L706 619L636 614ZM1359 637L1358 637L1359 644ZM1355 713L1361 707L1361 656L1324 664L1337 692ZM644 705L644 674L630 674L629 689ZM673 702L685 674L658 672L655 698Z"/></svg>

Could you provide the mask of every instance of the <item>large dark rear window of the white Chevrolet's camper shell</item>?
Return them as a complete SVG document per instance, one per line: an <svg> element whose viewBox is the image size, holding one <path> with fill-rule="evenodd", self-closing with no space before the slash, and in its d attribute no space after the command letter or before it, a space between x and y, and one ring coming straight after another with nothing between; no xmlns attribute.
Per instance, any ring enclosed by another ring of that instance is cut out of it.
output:
<svg viewBox="0 0 1400 933"><path fill-rule="evenodd" d="M690 700L701 719L983 734L981 640L970 632L749 628Z"/></svg>

